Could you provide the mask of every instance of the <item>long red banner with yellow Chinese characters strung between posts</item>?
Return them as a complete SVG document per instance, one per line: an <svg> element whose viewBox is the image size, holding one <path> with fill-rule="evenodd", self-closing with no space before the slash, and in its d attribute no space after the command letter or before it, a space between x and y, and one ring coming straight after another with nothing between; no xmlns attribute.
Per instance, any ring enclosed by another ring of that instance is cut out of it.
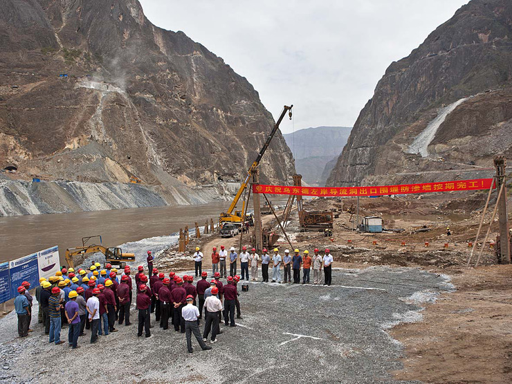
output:
<svg viewBox="0 0 512 384"><path fill-rule="evenodd" d="M491 188L493 179L475 179L442 181L439 183L422 184L404 184L404 185L379 185L376 187L351 187L351 188L332 188L332 187L286 187L284 185L262 185L254 184L254 193L264 194L295 194L302 196L385 196L389 194L412 194L428 192L450 192L450 191L470 191L470 190L488 190ZM493 186L495 188L495 185Z"/></svg>

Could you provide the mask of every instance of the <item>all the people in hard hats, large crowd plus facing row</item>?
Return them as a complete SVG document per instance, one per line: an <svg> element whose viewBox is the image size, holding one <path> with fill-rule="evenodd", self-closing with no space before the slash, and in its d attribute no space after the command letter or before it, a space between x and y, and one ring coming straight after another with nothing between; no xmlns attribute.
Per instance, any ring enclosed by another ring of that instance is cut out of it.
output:
<svg viewBox="0 0 512 384"><path fill-rule="evenodd" d="M60 333L62 327L68 327L68 345L80 348L78 339L85 336L85 330L90 330L90 342L95 343L98 337L117 332L116 325L131 325L130 308L134 302L138 316L137 336L152 337L151 316L164 330L170 325L174 331L185 333L187 349L192 353L192 334L199 342L201 349L211 349L206 344L208 338L213 344L221 331L219 324L224 322L226 327L236 327L236 318L241 318L239 291L237 284L241 280L258 280L259 266L262 269L262 282L268 282L268 267L272 262L272 282L281 283L281 271L284 271L284 283L291 283L291 270L293 269L293 283L300 284L300 270L302 269L302 284L309 284L310 270L313 267L313 284L322 284L322 269L324 271L324 285L331 285L331 264L333 257L326 249L320 255L318 249L310 256L308 250L302 252L284 250L281 257L279 250L273 250L274 255L268 255L264 249L261 257L255 248L251 253L246 246L238 255L235 248L228 253L224 246L217 252L212 250L212 280L208 281L208 273L202 271L203 253L199 247L194 253L195 277L199 280L194 284L194 276L183 275L179 277L170 272L165 273L153 268L153 256L147 252L147 271L144 266L138 266L131 277L131 268L126 266L121 272L111 264L105 264L104 269L98 262L93 262L87 269L62 267L55 276L48 279L42 277L35 290L35 298L39 303L38 321L44 324L44 333L48 341L55 345L64 344ZM237 262L240 260L241 277L237 275ZM229 263L228 275L226 264ZM226 283L221 282L226 279ZM18 288L15 298L15 311L18 316L18 333L21 338L32 332L33 296L30 295L30 283L23 282ZM203 319L204 327L201 335L199 325ZM170 323L170 324L169 324Z"/></svg>

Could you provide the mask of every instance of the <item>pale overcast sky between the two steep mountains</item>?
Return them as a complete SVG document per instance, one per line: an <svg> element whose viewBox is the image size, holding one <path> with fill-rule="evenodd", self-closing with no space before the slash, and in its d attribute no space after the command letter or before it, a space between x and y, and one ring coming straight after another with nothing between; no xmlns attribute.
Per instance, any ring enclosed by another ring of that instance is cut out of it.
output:
<svg viewBox="0 0 512 384"><path fill-rule="evenodd" d="M183 30L248 79L284 133L351 127L391 62L468 0L139 0L153 24Z"/></svg>

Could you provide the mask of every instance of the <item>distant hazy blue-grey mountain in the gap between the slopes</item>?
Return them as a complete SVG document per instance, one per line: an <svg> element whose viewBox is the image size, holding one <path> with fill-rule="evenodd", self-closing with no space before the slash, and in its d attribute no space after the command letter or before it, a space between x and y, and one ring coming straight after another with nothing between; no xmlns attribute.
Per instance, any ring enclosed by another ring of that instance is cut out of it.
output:
<svg viewBox="0 0 512 384"><path fill-rule="evenodd" d="M325 184L350 130L350 127L315 127L283 135L293 152L295 168L306 183Z"/></svg>

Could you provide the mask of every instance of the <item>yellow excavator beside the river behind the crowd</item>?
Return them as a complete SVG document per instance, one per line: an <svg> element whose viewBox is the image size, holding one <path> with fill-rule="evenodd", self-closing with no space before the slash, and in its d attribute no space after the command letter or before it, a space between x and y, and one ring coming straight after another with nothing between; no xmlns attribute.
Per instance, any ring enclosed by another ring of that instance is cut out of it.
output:
<svg viewBox="0 0 512 384"><path fill-rule="evenodd" d="M99 238L100 244L87 244L91 239ZM121 248L118 247L105 247L102 246L102 238L100 235L82 237L82 246L76 248L66 249L66 262L68 266L74 268L75 263L73 257L81 256L82 261L84 256L88 253L100 252L105 256L105 263L110 263L112 266L125 268L126 263L135 262L134 253L122 253Z"/></svg>

